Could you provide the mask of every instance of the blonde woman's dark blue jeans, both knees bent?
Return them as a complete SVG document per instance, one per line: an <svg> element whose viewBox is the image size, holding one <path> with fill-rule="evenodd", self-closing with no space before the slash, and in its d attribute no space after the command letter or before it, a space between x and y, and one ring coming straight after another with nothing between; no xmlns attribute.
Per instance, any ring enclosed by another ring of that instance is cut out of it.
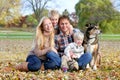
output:
<svg viewBox="0 0 120 80"><path fill-rule="evenodd" d="M58 54L53 51L46 53L46 60L41 60L36 55L29 55L26 59L28 63L28 70L29 71L38 71L44 63L45 69L56 69L60 68L61 59Z"/></svg>

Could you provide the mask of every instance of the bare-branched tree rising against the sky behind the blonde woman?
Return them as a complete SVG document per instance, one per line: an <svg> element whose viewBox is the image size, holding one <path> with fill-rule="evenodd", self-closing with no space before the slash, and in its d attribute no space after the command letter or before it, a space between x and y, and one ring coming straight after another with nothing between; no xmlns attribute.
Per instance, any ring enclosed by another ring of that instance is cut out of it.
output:
<svg viewBox="0 0 120 80"><path fill-rule="evenodd" d="M35 18L39 22L41 17L44 15L43 12L47 7L47 3L51 0L26 0L26 1L29 3L27 7L32 9Z"/></svg>

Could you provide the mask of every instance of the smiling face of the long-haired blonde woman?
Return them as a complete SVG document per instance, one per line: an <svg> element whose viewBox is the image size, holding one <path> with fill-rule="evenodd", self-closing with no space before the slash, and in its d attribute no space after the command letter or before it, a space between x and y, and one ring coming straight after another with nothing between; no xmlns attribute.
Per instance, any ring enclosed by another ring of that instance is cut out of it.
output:
<svg viewBox="0 0 120 80"><path fill-rule="evenodd" d="M53 25L49 18L44 19L43 21L43 30L45 32L51 32L53 31Z"/></svg>

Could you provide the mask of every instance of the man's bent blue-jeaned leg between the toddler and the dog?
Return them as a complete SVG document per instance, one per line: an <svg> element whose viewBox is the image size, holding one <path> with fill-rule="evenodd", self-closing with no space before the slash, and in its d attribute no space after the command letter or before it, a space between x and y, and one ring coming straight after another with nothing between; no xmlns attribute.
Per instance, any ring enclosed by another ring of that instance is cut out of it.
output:
<svg viewBox="0 0 120 80"><path fill-rule="evenodd" d="M85 53L78 59L78 65L81 69L85 69L86 65L90 63L92 60L92 54L91 53Z"/></svg>

